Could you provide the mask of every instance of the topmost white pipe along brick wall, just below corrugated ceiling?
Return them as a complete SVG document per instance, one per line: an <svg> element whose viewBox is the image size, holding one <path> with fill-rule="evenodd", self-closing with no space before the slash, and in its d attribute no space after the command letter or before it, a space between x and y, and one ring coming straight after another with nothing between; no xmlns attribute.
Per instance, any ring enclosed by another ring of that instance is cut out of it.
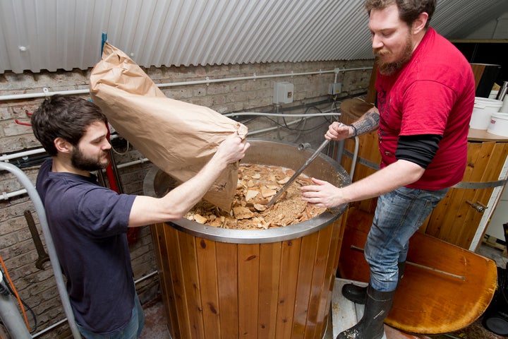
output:
<svg viewBox="0 0 508 339"><path fill-rule="evenodd" d="M373 67L356 67L352 69L331 69L328 71L314 71L314 72L302 72L302 73L284 73L284 74L266 74L264 76L258 76L254 73L253 76L238 76L235 78L219 78L219 79L210 79L208 77L205 80L196 80L196 81L181 81L178 83L158 83L157 87L174 87L174 86L186 86L186 85L200 85L200 84L210 84L210 83L222 83L226 81L243 81L243 80L255 80L255 79L263 79L263 78L281 78L285 76L310 76L315 74L324 74L324 73L335 73L336 75L341 72L346 71L368 71L372 70ZM20 99L30 99L35 97L49 97L55 94L61 95L72 95L72 94L87 94L90 93L90 90L61 90L56 92L49 92L48 88L43 88L42 93L25 93L25 94L11 94L11 95L1 95L0 101L7 100L20 100Z"/></svg>

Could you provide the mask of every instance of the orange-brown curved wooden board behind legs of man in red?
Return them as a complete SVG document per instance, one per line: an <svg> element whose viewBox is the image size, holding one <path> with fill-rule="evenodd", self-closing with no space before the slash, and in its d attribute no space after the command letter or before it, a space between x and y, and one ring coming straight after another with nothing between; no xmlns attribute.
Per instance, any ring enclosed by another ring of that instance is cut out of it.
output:
<svg viewBox="0 0 508 339"><path fill-rule="evenodd" d="M363 247L373 214L348 211L339 256L341 278L368 282ZM408 333L457 331L478 319L497 285L494 261L421 232L410 240L404 279L385 323Z"/></svg>

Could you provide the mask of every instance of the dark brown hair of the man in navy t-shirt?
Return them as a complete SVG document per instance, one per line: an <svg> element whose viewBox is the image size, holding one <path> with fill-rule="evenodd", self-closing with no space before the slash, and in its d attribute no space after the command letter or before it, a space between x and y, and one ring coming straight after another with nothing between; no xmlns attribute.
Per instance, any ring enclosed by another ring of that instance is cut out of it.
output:
<svg viewBox="0 0 508 339"><path fill-rule="evenodd" d="M31 119L35 138L51 156L57 154L54 146L56 138L78 145L87 127L94 121L107 124L107 117L97 105L80 97L65 95L47 97Z"/></svg>

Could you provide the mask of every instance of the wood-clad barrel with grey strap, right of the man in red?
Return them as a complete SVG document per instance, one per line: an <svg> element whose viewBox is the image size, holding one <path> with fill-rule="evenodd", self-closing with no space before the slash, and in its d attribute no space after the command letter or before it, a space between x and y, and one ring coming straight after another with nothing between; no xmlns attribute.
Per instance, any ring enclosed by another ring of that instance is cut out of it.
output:
<svg viewBox="0 0 508 339"><path fill-rule="evenodd" d="M506 184L507 173L508 138L470 129L464 178L437 204L421 230L476 251Z"/></svg>

